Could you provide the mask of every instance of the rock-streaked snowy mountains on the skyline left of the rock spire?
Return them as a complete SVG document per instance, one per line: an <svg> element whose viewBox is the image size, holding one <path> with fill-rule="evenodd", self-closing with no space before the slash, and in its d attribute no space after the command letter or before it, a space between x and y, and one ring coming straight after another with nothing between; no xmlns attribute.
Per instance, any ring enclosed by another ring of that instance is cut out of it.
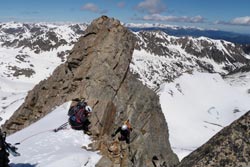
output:
<svg viewBox="0 0 250 167"><path fill-rule="evenodd" d="M86 29L86 24L1 23L0 44L5 47L29 48L36 53L62 45L72 45Z"/></svg>

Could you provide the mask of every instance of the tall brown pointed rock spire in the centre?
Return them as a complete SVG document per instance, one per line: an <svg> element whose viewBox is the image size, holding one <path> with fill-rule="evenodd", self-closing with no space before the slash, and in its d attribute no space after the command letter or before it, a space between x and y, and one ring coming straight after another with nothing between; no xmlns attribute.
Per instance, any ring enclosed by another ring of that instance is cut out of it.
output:
<svg viewBox="0 0 250 167"><path fill-rule="evenodd" d="M94 20L75 44L66 63L28 93L25 103L4 128L8 133L16 132L57 105L85 97L94 110L92 148L103 154L99 166L175 165L178 160L169 145L158 96L129 70L134 43L134 35L118 20L106 16ZM134 128L131 144L129 147L122 143L116 145L119 158L113 157L115 141L110 135L126 119ZM157 164L152 162L156 158Z"/></svg>

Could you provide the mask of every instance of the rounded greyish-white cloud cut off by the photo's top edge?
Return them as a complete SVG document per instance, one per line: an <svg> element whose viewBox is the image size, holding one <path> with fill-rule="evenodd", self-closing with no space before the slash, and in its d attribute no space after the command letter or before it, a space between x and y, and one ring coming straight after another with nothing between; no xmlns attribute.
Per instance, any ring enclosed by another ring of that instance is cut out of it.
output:
<svg viewBox="0 0 250 167"><path fill-rule="evenodd" d="M149 14L159 14L166 11L167 7L161 0L144 0L136 6L136 9Z"/></svg>

